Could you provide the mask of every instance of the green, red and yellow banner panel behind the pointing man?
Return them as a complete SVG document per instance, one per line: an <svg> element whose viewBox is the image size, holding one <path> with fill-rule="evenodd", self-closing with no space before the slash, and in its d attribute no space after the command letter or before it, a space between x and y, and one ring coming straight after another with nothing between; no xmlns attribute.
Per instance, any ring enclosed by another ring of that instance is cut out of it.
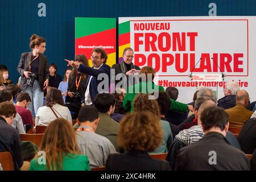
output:
<svg viewBox="0 0 256 182"><path fill-rule="evenodd" d="M106 64L115 64L116 53L115 18L76 18L75 19L75 55L84 54L89 60L94 48L102 48L108 53Z"/></svg>

